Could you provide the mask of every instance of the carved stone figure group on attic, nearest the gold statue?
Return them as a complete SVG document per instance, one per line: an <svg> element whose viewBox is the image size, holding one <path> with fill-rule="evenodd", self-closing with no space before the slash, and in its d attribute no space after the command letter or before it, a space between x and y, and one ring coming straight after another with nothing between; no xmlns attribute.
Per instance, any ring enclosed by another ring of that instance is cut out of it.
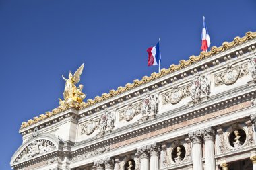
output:
<svg viewBox="0 0 256 170"><path fill-rule="evenodd" d="M104 111L100 118L99 129L100 132L106 132L107 130L113 130L115 126L115 116L113 113L108 112L108 110Z"/></svg>

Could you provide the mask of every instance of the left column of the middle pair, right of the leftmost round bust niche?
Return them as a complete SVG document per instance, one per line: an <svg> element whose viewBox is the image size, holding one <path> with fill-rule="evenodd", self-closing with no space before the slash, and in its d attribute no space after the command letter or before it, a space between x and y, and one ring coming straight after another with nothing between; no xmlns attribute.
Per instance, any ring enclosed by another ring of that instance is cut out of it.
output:
<svg viewBox="0 0 256 170"><path fill-rule="evenodd" d="M140 156L140 168L139 170L150 169L149 149L147 146L137 149L137 153Z"/></svg>

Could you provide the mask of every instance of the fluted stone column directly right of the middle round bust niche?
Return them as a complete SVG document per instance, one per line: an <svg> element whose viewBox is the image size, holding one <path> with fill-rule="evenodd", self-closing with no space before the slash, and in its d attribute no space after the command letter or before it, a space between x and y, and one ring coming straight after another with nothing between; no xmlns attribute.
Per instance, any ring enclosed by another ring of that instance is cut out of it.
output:
<svg viewBox="0 0 256 170"><path fill-rule="evenodd" d="M203 170L202 143L203 130L197 130L189 134L193 144L193 170Z"/></svg>

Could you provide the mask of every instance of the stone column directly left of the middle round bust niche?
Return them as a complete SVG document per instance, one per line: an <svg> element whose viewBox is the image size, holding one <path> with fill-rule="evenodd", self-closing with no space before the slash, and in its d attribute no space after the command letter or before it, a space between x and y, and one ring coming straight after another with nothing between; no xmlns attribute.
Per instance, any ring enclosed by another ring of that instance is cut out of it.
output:
<svg viewBox="0 0 256 170"><path fill-rule="evenodd" d="M160 145L151 144L149 148L150 148L150 170L158 170Z"/></svg>

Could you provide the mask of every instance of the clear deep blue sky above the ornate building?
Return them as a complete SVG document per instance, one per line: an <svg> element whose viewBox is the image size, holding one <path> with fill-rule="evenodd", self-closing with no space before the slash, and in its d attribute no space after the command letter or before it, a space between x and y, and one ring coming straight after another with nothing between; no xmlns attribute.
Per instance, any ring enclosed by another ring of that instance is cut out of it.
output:
<svg viewBox="0 0 256 170"><path fill-rule="evenodd" d="M58 105L69 70L85 63L87 99L158 71L146 49L161 38L162 65L198 55L203 15L211 46L255 31L255 0L0 0L0 169L22 144L22 122Z"/></svg>

